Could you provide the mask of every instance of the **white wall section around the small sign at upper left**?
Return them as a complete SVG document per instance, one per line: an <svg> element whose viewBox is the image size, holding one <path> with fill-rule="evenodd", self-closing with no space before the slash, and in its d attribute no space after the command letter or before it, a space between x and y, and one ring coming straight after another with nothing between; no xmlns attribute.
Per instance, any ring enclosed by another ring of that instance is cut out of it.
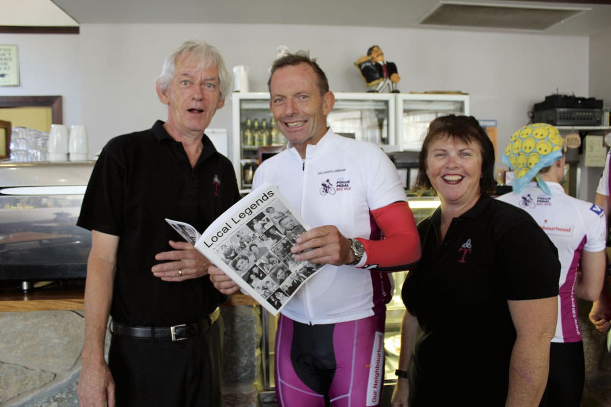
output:
<svg viewBox="0 0 611 407"><path fill-rule="evenodd" d="M65 124L79 124L81 45L76 34L0 34L0 44L19 46L20 85L0 96L62 96Z"/></svg>

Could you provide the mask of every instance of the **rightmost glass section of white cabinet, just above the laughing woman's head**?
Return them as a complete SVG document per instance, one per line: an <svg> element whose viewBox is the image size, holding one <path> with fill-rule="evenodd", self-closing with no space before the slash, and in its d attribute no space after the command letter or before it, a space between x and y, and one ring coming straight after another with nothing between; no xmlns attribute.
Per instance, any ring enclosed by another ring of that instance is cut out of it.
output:
<svg viewBox="0 0 611 407"><path fill-rule="evenodd" d="M469 115L469 95L462 93L398 93L397 142L402 151L420 151L428 124L448 115Z"/></svg>

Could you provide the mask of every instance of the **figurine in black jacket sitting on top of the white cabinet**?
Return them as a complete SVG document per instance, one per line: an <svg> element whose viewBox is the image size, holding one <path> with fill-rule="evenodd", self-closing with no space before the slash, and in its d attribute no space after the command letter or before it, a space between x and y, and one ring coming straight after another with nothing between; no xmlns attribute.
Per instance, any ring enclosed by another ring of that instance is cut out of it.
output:
<svg viewBox="0 0 611 407"><path fill-rule="evenodd" d="M378 45L371 46L367 55L359 58L354 65L359 68L367 87L370 87L367 92L382 92L388 87L389 92L399 93L397 84L401 77L397 73L397 65L384 60L384 52Z"/></svg>

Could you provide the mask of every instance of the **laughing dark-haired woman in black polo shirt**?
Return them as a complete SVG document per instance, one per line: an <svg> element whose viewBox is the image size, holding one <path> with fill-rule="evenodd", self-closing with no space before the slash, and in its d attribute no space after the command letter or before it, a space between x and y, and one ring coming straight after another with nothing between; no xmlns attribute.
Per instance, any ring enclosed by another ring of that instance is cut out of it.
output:
<svg viewBox="0 0 611 407"><path fill-rule="evenodd" d="M441 206L418 225L422 258L401 292L393 406L408 398L430 406L534 406L541 399L560 265L529 215L486 194L493 165L494 146L474 117L431 122L417 184L433 187Z"/></svg>

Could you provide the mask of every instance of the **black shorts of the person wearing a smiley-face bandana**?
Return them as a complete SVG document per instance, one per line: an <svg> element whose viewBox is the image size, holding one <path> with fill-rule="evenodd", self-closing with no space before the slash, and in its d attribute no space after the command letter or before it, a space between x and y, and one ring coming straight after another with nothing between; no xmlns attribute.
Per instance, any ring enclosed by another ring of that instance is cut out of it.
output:
<svg viewBox="0 0 611 407"><path fill-rule="evenodd" d="M539 406L579 407L585 381L583 342L552 342L549 352L547 387Z"/></svg>

